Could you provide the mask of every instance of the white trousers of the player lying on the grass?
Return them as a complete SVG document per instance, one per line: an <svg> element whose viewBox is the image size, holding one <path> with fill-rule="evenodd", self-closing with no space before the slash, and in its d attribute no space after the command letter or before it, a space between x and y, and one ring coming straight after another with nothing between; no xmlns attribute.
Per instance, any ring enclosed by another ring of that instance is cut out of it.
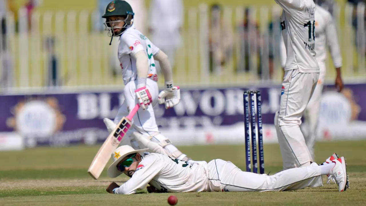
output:
<svg viewBox="0 0 366 206"><path fill-rule="evenodd" d="M313 163L307 167L292 168L268 176L244 172L233 163L214 159L208 163L209 190L211 191L288 191L305 187L320 187L320 167Z"/></svg>

